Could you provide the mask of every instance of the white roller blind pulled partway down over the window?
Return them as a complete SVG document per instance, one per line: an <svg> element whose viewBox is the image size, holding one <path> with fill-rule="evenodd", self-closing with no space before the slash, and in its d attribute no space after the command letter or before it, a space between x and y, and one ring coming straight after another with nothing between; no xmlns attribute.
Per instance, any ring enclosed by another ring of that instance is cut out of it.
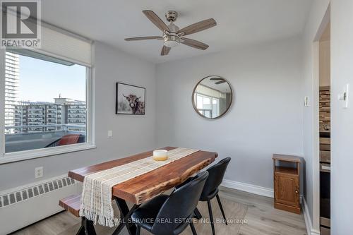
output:
<svg viewBox="0 0 353 235"><path fill-rule="evenodd" d="M60 56L78 64L92 66L92 43L42 24L41 48L38 52Z"/></svg>

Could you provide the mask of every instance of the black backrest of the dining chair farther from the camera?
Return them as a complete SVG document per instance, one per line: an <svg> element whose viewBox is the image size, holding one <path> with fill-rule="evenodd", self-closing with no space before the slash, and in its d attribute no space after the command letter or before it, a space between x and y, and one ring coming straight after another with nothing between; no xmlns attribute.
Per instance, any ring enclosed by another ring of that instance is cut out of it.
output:
<svg viewBox="0 0 353 235"><path fill-rule="evenodd" d="M220 186L223 181L223 177L225 176L225 170L227 169L230 159L230 157L226 157L207 169L209 175L201 194L202 198L206 198L210 195L210 193L215 191L218 186Z"/></svg>

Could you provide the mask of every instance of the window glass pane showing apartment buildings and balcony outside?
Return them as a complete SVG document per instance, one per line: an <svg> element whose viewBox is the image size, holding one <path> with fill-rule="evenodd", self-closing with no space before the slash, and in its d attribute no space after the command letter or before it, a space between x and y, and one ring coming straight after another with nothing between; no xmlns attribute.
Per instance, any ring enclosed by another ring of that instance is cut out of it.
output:
<svg viewBox="0 0 353 235"><path fill-rule="evenodd" d="M5 152L86 141L86 67L6 52Z"/></svg>

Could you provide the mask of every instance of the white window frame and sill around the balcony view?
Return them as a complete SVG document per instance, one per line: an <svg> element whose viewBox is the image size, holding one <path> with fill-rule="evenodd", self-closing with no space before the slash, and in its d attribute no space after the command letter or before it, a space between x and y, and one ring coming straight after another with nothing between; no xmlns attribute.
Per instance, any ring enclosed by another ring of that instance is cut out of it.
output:
<svg viewBox="0 0 353 235"><path fill-rule="evenodd" d="M53 155L61 155L68 152L77 152L83 150L90 150L95 148L95 131L94 131L94 60L92 65L73 61L72 59L64 58L63 56L56 56L52 53L40 52L47 56L54 56L58 59L64 59L74 64L85 66L86 68L86 143L77 143L74 145L63 145L50 148L42 148L36 150L24 150L18 152L5 152L5 53L6 49L0 49L0 164L10 162L18 162L28 159L35 159L38 157L49 157ZM92 44L92 55L94 53L94 44Z"/></svg>

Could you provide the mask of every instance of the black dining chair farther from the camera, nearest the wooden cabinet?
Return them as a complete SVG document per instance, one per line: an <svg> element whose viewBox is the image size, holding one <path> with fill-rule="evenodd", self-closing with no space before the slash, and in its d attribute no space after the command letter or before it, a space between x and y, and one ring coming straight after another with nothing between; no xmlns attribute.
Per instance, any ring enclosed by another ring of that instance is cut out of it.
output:
<svg viewBox="0 0 353 235"><path fill-rule="evenodd" d="M227 218L225 217L225 210L223 210L222 203L220 201L220 196L218 195L218 186L220 186L220 184L223 181L223 177L225 176L225 171L227 169L227 166L230 160L231 160L230 157L226 157L225 159L220 160L220 162L218 162L217 164L214 164L212 167L207 169L209 175L206 180L205 186L203 187L203 191L200 197L201 201L203 202L207 201L213 235L215 235L215 224L213 222L213 212L211 207L211 200L213 198L215 197L217 198L217 203L220 206L220 210L222 212L223 218L225 219L225 224L228 225ZM192 180L193 178L190 178L186 180L184 183L188 183L189 181L192 181ZM176 188L182 187L184 183L182 183L180 186L177 186ZM198 211L197 207L195 208L194 214L196 218L201 219L202 215Z"/></svg>

